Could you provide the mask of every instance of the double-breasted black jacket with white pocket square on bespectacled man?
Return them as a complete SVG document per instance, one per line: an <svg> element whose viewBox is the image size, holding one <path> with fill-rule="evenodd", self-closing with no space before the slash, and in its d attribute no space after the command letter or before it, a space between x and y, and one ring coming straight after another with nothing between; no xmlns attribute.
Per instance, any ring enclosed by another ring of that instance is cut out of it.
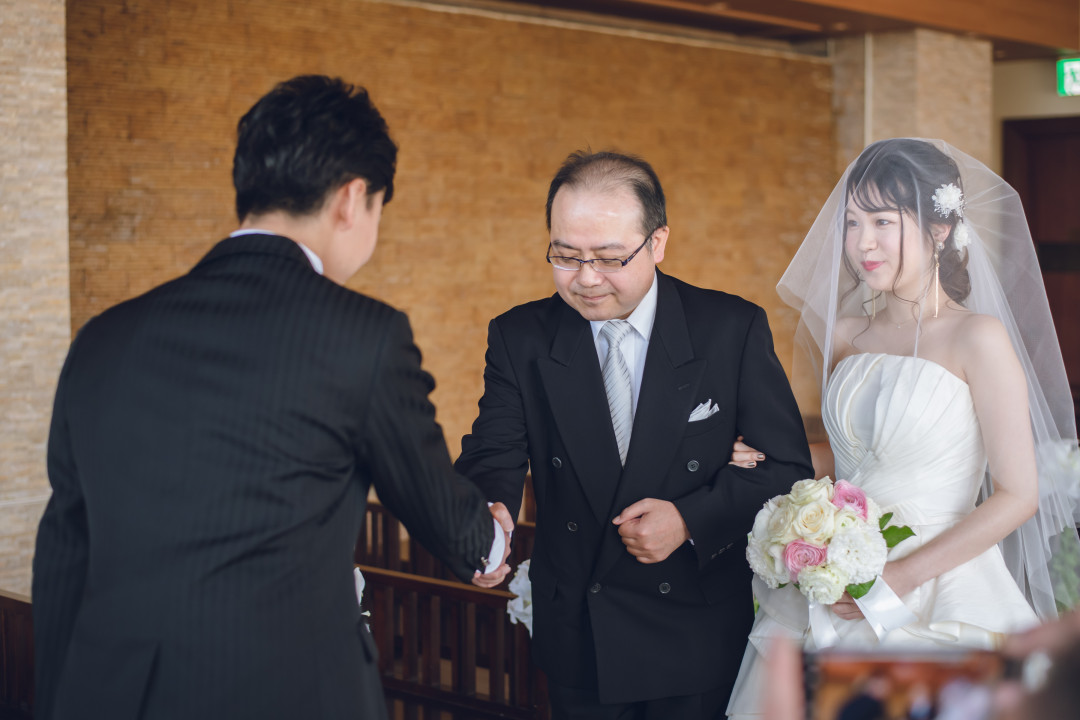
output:
<svg viewBox="0 0 1080 720"><path fill-rule="evenodd" d="M813 475L765 312L657 283L624 467L589 323L557 295L491 322L480 416L456 464L515 514L531 467L537 661L607 703L733 682L754 613L746 534L766 500ZM706 400L719 410L688 422ZM738 435L768 460L729 465ZM674 502L693 543L659 563L631 556L611 519L643 498Z"/></svg>

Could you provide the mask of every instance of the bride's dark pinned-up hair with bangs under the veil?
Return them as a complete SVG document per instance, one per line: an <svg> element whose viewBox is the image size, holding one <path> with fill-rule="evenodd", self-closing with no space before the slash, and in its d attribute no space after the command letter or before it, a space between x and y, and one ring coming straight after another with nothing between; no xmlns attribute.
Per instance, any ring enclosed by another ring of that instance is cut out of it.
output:
<svg viewBox="0 0 1080 720"><path fill-rule="evenodd" d="M931 226L948 226L948 236L937 260L941 284L949 298L962 303L971 293L971 279L968 254L958 252L954 239L960 217L958 213L942 217L933 199L934 192L947 185L963 190L960 171L951 158L931 144L907 138L879 140L863 150L852 166L847 196L866 213L899 210L902 232L904 215L916 218L931 253L934 245ZM902 270L903 246L900 263ZM843 264L853 276L859 276L847 253Z"/></svg>

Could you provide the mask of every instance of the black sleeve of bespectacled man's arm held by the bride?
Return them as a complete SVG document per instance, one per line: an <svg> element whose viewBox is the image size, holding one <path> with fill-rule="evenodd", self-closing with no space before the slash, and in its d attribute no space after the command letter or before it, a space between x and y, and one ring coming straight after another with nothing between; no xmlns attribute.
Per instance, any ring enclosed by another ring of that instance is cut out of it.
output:
<svg viewBox="0 0 1080 720"><path fill-rule="evenodd" d="M755 309L743 343L738 432L767 460L757 467L725 464L711 481L675 501L703 567L729 549L742 552L754 517L770 498L813 477L810 448L787 376L772 348L765 311ZM730 456L730 448L724 449Z"/></svg>

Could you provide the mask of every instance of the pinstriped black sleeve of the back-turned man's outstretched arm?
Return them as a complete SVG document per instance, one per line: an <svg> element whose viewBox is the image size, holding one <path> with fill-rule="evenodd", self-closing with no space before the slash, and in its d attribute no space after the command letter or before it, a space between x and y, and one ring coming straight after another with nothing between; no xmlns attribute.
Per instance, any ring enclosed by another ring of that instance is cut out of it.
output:
<svg viewBox="0 0 1080 720"><path fill-rule="evenodd" d="M481 569L494 525L480 490L454 472L408 320L394 313L377 364L364 436L379 500L463 581Z"/></svg>

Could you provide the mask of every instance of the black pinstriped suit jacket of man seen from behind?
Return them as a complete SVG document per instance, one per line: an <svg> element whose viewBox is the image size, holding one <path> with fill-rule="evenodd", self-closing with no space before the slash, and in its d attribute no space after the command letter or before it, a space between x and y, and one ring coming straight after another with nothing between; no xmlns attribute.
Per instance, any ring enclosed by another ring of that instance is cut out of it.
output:
<svg viewBox="0 0 1080 720"><path fill-rule="evenodd" d="M274 235L90 321L49 439L37 717L384 717L352 574L368 487L463 579L492 540L432 388L404 314Z"/></svg>

